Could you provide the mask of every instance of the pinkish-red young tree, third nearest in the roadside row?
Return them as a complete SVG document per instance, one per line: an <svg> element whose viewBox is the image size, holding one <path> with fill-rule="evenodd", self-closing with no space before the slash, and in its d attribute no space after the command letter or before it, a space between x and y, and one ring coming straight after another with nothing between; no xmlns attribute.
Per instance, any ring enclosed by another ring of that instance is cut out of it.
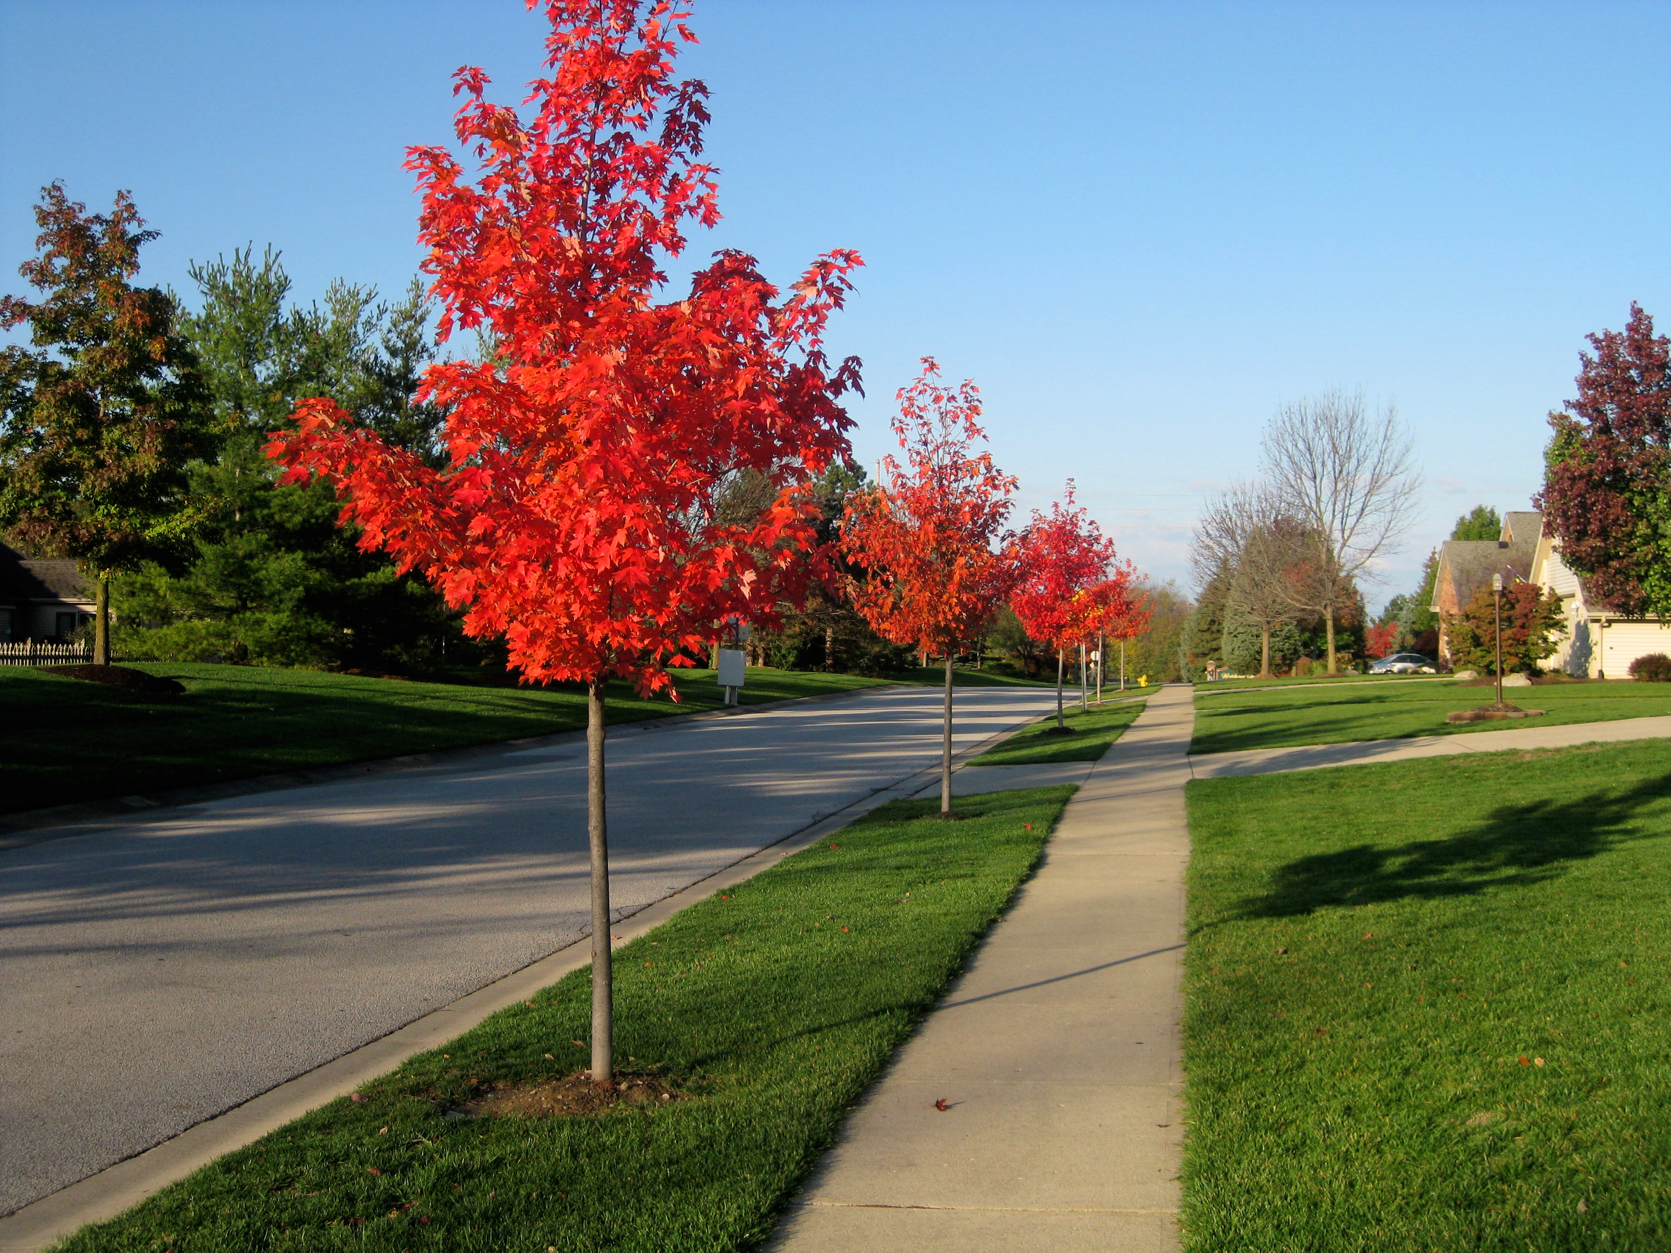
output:
<svg viewBox="0 0 1671 1253"><path fill-rule="evenodd" d="M1068 500L1053 501L1049 513L1033 511L1033 521L1021 533L1021 581L1009 598L1009 608L1021 618L1026 633L1048 640L1056 648L1056 728L1063 730L1061 680L1063 652L1084 637L1086 611L1079 595L1110 578L1115 541L1105 540L1101 528L1073 505L1073 479Z"/></svg>

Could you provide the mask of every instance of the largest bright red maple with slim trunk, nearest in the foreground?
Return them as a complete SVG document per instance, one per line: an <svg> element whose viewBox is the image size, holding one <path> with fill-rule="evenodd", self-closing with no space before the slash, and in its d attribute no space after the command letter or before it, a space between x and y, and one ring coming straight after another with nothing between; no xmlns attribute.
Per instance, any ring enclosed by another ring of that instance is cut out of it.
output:
<svg viewBox="0 0 1671 1253"><path fill-rule="evenodd" d="M391 448L328 399L304 401L272 456L287 478L326 476L363 545L419 570L465 630L503 635L531 682L587 685L592 847L592 1078L613 1079L605 683L670 687L720 623L775 621L809 563L804 486L846 454L822 334L854 252L820 257L779 301L752 257L720 252L688 296L662 299L685 224L714 226L714 170L697 160L698 82L672 79L690 40L668 0L546 0L548 77L525 120L456 74L471 184L441 147L411 149L424 267L441 336L485 329L490 359L429 366L419 399L449 409L448 464ZM769 490L747 518L735 483ZM677 693L673 693L677 700Z"/></svg>

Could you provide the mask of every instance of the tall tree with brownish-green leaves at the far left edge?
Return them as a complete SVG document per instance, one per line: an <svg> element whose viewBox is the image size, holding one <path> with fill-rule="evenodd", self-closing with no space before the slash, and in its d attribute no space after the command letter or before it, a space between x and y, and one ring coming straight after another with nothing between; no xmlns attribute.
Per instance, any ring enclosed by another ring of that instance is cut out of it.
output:
<svg viewBox="0 0 1671 1253"><path fill-rule="evenodd" d="M110 662L110 575L177 550L192 526L185 464L207 446L209 396L179 306L135 287L145 231L127 192L89 214L63 185L35 209L38 302L0 299L0 525L75 558L97 588L94 660Z"/></svg>

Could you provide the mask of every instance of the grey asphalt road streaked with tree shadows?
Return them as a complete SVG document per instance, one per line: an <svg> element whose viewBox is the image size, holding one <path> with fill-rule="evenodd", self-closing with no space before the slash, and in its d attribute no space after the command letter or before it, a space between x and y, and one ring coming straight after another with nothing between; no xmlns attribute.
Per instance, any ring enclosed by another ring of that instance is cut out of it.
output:
<svg viewBox="0 0 1671 1253"><path fill-rule="evenodd" d="M1053 700L959 688L956 747ZM612 730L618 914L932 765L939 702ZM585 934L580 743L0 850L0 1215Z"/></svg>

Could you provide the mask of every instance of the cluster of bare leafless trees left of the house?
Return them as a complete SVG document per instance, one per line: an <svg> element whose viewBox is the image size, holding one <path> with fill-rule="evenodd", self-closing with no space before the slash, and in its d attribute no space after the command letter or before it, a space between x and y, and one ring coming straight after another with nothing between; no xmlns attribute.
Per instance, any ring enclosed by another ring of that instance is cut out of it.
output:
<svg viewBox="0 0 1671 1253"><path fill-rule="evenodd" d="M1392 408L1328 391L1278 409L1260 476L1210 501L1196 526L1191 653L1262 677L1318 645L1327 673L1362 655L1359 583L1409 528L1419 486Z"/></svg>

